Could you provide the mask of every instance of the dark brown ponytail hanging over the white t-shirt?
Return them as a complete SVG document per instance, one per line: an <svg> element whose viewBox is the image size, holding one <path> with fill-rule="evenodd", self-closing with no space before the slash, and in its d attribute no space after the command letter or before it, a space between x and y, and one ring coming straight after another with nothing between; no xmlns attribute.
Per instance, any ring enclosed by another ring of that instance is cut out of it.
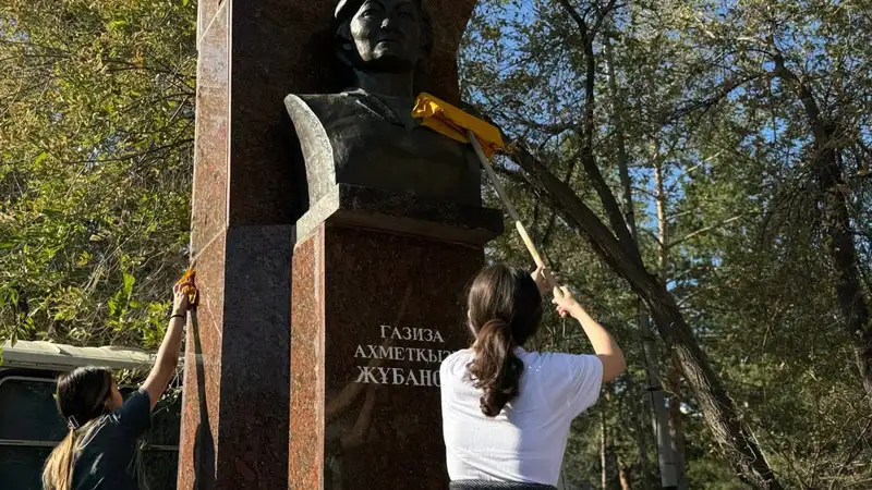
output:
<svg viewBox="0 0 872 490"><path fill-rule="evenodd" d="M491 320L479 330L469 372L473 385L483 392L479 403L488 417L499 415L518 396L524 364L514 354L514 347L511 327L504 320Z"/></svg>

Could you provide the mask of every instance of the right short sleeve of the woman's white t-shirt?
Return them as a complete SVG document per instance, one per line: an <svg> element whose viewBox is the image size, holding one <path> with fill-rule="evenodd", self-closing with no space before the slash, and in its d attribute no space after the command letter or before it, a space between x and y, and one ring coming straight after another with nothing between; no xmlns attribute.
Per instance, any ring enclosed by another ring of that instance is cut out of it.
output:
<svg viewBox="0 0 872 490"><path fill-rule="evenodd" d="M556 400L558 407L578 416L600 399L603 384L603 362L593 355L557 354L554 358L560 366L555 372L564 378L555 380L564 387ZM546 388L547 389L547 388Z"/></svg>

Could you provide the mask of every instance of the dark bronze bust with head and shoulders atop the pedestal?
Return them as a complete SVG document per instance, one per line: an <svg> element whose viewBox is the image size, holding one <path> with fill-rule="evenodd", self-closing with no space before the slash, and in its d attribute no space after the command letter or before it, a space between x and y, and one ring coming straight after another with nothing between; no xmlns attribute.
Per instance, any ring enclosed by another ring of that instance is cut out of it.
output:
<svg viewBox="0 0 872 490"><path fill-rule="evenodd" d="M310 207L337 183L481 206L472 149L411 117L414 73L433 38L423 1L341 0L335 48L351 86L286 98Z"/></svg>

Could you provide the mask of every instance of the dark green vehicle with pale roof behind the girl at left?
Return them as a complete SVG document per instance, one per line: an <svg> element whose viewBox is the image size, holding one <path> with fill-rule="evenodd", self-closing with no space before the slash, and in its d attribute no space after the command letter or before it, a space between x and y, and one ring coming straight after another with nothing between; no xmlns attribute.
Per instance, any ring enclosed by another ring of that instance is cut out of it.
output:
<svg viewBox="0 0 872 490"><path fill-rule="evenodd" d="M41 490L51 450L66 436L55 405L55 380L78 366L104 366L147 373L153 354L119 347L74 347L49 342L3 344L0 364L0 482L9 490ZM140 381L140 380L134 380ZM178 384L175 384L178 387ZM123 395L135 385L119 387ZM152 490L175 488L181 394L168 390L143 438L143 463Z"/></svg>

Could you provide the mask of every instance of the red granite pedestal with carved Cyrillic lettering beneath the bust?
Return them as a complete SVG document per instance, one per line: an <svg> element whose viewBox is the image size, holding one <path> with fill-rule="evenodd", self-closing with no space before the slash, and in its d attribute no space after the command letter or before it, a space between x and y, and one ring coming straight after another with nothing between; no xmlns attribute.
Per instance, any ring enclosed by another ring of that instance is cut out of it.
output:
<svg viewBox="0 0 872 490"><path fill-rule="evenodd" d="M469 345L465 289L501 217L343 193L368 197L310 224L293 254L289 486L444 490L439 364ZM423 210L440 211L408 218ZM415 234L400 233L400 215ZM449 241L464 229L472 243Z"/></svg>

